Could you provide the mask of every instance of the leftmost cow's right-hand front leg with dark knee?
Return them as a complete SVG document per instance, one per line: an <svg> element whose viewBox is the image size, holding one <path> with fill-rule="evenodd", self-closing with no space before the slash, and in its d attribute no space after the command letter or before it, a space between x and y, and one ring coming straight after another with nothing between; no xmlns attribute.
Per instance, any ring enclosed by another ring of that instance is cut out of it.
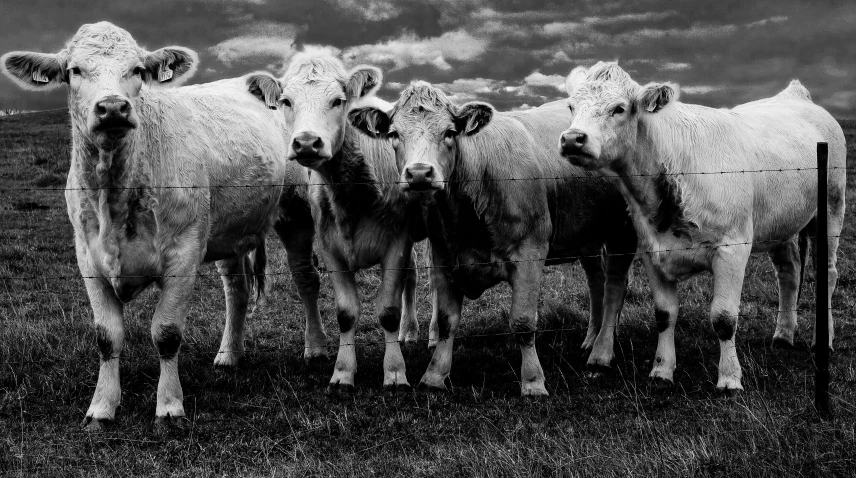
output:
<svg viewBox="0 0 856 478"><path fill-rule="evenodd" d="M160 356L155 425L184 417L184 393L178 378L178 351L184 336L187 309L196 279L195 267L165 271L160 300L152 320L152 341Z"/></svg>

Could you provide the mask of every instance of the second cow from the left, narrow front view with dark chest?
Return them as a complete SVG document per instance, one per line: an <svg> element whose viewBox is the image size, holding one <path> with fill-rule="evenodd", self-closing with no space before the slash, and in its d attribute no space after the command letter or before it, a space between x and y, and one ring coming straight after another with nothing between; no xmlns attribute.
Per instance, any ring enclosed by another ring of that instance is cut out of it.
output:
<svg viewBox="0 0 856 478"><path fill-rule="evenodd" d="M416 322L414 240L424 237L421 214L395 185L397 171L390 146L367 138L347 122L356 102L382 106L373 97L380 87L377 68L345 70L328 54L303 52L285 75L251 77L270 97L279 98L291 145L288 157L310 168L312 215L320 254L333 280L339 322L339 353L329 391L354 389L357 370L355 332L360 300L355 273L380 264L383 279L375 313L384 331L384 387L407 388L398 341L413 341ZM277 122L280 125L280 122ZM403 311L402 311L403 308Z"/></svg>

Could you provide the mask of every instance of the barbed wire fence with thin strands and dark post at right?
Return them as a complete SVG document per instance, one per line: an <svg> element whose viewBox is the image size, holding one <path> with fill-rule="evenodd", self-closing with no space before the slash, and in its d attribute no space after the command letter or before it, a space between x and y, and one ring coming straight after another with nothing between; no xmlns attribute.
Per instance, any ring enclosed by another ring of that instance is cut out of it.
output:
<svg viewBox="0 0 856 478"><path fill-rule="evenodd" d="M761 173L787 173L787 172L811 172L816 171L818 173L819 178L819 188L818 188L818 211L826 210L826 175L829 170L834 169L844 169L851 170L856 168L847 168L847 167L829 167L827 168L826 164L826 150L825 147L819 145L818 146L818 167L816 168L777 168L777 169L756 169L756 170L730 170L730 171L704 171L704 172L675 172L675 173L658 173L658 174L639 174L639 175L631 175L631 176L694 176L694 175L725 175L725 174L761 174ZM475 182L475 181L562 181L562 180L572 180L572 179L602 179L602 177L594 175L594 174L586 174L579 176L561 176L561 177L531 177L531 178L496 178L496 179L479 179L479 180L468 180L468 181L446 181L447 183L458 182ZM326 183L293 183L293 184L221 184L221 185L159 185L159 186L145 186L146 189L215 189L215 188L270 188L270 187L283 187L283 186L320 186L325 185ZM364 185L395 185L400 184L399 181L376 181L371 183L348 183L350 185L356 184L364 184ZM113 189L113 190L130 190L130 189L140 189L140 187L116 187L116 188L104 188L104 189ZM69 190L90 190L90 188L68 188L68 187L10 187L10 188L2 188L0 192L6 193L22 193L22 192L65 192ZM826 258L828 254L825 252L825 248L827 245L826 239L826 218L825 215L818 215L818 227L817 234L818 236L815 239L817 244L817 257L818 258ZM838 238L845 237L844 235L833 236ZM720 247L733 247L733 246L754 246L758 244L762 244L764 242L777 243L781 242L778 240L771 241L745 241L745 242L735 242L735 243L722 243L722 244L714 244L714 245L700 245L700 246L692 246L692 247L684 247L684 248L670 248L670 249L659 249L659 250L639 250L632 253L605 253L605 254L597 254L597 255L571 255L571 256L562 256L562 257L539 257L534 259L526 259L526 260L508 260L508 261L485 261L485 262L475 262L475 263L466 263L466 264L455 264L455 265L444 265L444 264L431 264L431 265L418 265L414 264L412 267L407 267L403 269L407 270L432 270L432 269L445 269L445 268L455 268L455 267L479 267L485 265L499 265L499 264L513 264L519 262L543 262L546 260L550 261L563 261L570 262L573 260L590 258L590 257L603 257L603 256L620 256L620 255L640 255L640 254L667 254L671 252L682 252L682 251L691 251L691 250L713 250ZM826 329L826 317L827 317L827 303L825 298L827 297L826 290L828 284L826 283L826 274L818 273L819 271L826 271L825 267L818 267L818 264L814 265L816 275L815 282L815 296L816 300L816 323L814 324L817 337L816 342L818 344L825 344L827 342L826 337L828 336L828 330ZM333 272L355 272L352 270L324 270L324 273L333 273ZM314 274L315 272L301 272L301 271L293 271L293 270L281 270L281 271L266 271L264 275L267 276L294 276L295 274L307 273ZM232 274L221 274L221 273L204 273L198 272L193 274L193 277L197 276L209 276L209 277L218 277L218 276L254 276L258 275L255 273L232 273ZM0 282L16 282L16 281L34 281L34 280L45 280L45 279L55 279L55 280L75 280L75 279L112 279L112 278L143 278L143 279L159 279L165 277L188 277L186 275L158 275L158 276L143 276L143 275L120 275L120 276L82 276L80 274L61 274L61 275L46 275L46 274L28 274L28 275L15 275L15 274L5 274L0 275ZM792 310L777 310L776 313L781 312L796 312L800 310L799 306ZM736 314L735 317L742 318L753 318L757 317L759 314ZM621 327L622 324L618 324L615 327ZM562 332L580 332L587 328L584 324L579 324L577 326L562 326L562 327L550 327L543 328L538 331L539 334L544 333L562 333ZM489 332L489 333L471 333L471 334L462 334L456 335L455 340L467 340L467 339L477 339L477 338L488 338L488 337L507 337L515 335L515 332ZM415 342L426 342L429 338L419 337L415 340ZM338 348L342 345L344 346L370 346L370 345L385 345L389 343L386 340L359 340L354 343L328 343L325 344L324 347L328 349ZM235 351L220 351L220 350L209 350L204 348L198 348L194 346L193 343L188 343L186 345L190 346L190 350L182 350L181 355L204 355L204 356L216 356L221 353L233 353ZM282 348L256 348L253 350L241 351L243 355L268 355L268 354L282 354ZM132 358L155 358L158 357L156 353L150 354L124 354L122 355L125 359ZM12 360L11 358L8 360L0 360L0 367L11 369L13 373L16 375L16 383L17 383L17 375L19 373L24 373L25 369L15 369L15 367L25 367L27 365L34 364L51 364L56 362L62 362L70 360L69 357L61 357L61 356L53 356L53 357L43 357L34 360ZM829 358L828 358L828 349L826 347L817 347L817 350L814 354L814 368L815 368L815 406L820 412L828 412L829 411ZM306 432L307 430L302 430L301 432ZM17 458L23 460L25 458L25 454L19 453L16 455ZM53 458L63 459L68 458L69 460L82 460L79 457L62 457L56 456ZM84 463L82 465L86 466Z"/></svg>

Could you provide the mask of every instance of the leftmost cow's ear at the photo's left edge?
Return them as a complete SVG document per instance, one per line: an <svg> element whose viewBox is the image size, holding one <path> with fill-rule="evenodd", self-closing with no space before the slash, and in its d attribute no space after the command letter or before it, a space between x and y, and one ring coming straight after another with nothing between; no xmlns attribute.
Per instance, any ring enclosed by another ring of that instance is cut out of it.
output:
<svg viewBox="0 0 856 478"><path fill-rule="evenodd" d="M64 62L55 53L13 51L0 57L0 71L25 90L44 91L65 81Z"/></svg>

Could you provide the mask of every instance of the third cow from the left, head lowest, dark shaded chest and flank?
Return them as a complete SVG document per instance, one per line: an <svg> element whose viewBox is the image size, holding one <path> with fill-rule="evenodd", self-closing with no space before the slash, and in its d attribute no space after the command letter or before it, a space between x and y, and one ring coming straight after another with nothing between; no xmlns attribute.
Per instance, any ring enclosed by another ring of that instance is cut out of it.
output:
<svg viewBox="0 0 856 478"><path fill-rule="evenodd" d="M478 298L507 281L511 328L523 356L521 392L546 395L535 351L541 272L577 258L591 299L583 347L592 349L590 365L610 365L636 235L618 190L569 165L551 146L571 119L563 103L498 113L486 103L455 106L437 88L416 82L389 114L361 108L350 117L364 133L392 143L404 193L414 200L433 194L436 348L421 385L445 388L464 296ZM604 246L618 255L604 261Z"/></svg>

